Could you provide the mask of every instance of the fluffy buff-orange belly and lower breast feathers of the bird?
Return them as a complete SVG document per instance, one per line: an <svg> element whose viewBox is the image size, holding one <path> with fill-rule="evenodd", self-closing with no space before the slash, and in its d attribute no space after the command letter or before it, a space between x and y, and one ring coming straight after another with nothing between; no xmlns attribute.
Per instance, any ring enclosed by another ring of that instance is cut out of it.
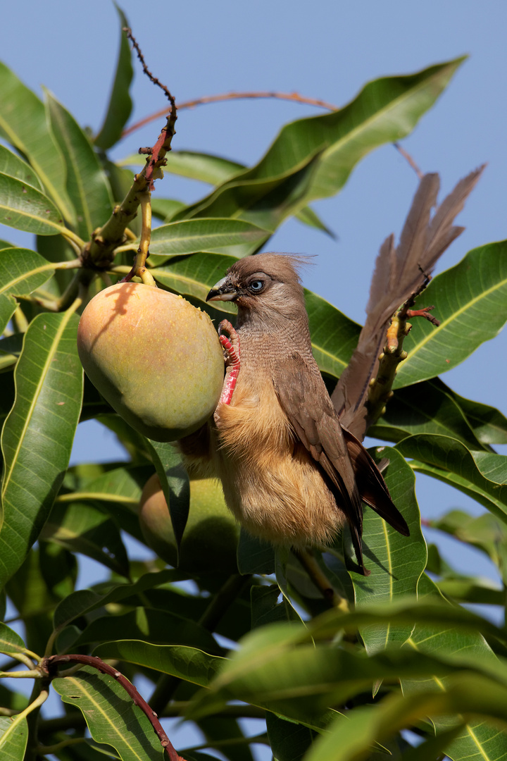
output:
<svg viewBox="0 0 507 761"><path fill-rule="evenodd" d="M256 536L274 543L328 543L344 522L312 457L297 440L264 368L239 372L220 404L217 470L227 505Z"/></svg>

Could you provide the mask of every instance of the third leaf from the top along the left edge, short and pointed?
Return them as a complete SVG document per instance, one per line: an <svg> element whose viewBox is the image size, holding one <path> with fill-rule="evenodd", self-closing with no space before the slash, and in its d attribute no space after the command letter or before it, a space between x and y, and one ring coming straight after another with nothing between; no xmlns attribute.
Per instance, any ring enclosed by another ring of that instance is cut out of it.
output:
<svg viewBox="0 0 507 761"><path fill-rule="evenodd" d="M44 193L7 174L0 174L0 222L37 235L66 232L62 215Z"/></svg>

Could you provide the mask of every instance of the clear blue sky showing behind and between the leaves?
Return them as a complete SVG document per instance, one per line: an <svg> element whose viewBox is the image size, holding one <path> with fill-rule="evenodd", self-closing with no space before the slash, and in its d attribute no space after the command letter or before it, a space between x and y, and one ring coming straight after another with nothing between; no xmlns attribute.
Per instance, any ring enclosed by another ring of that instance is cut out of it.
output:
<svg viewBox="0 0 507 761"><path fill-rule="evenodd" d="M297 91L341 106L366 81L468 54L448 91L421 119L404 147L424 171L439 171L442 195L468 171L488 164L458 219L467 230L445 253L437 272L457 263L471 248L507 237L507 5L503 2L145 0L141 4L124 0L122 8L150 68L180 102L229 91L274 90ZM82 125L94 131L100 128L119 43L112 3L26 0L11 5L2 19L2 32L0 56L27 85L40 92L44 84ZM132 121L164 107L162 94L139 68L133 97ZM319 112L274 100L185 110L179 114L173 147L251 164L280 126L312 113ZM160 126L154 123L132 135L116 148L113 158L136 151L139 145L152 145ZM361 322L379 245L391 231L399 234L416 186L414 172L387 145L356 168L339 196L315 204L337 240L288 221L269 248L317 254L315 266L304 273L304 285ZM205 189L167 176L158 183L157 192L190 202ZM14 239L11 231L2 237ZM24 244L31 246L30 240ZM507 412L506 335L483 345L443 378L458 393L503 412ZM83 427L74 457L93 459L97 447L105 456L112 451L110 439L100 430ZM474 505L452 489L424 481L418 495L426 517ZM445 547L458 565L469 567L471 560L461 548L450 540ZM478 567L490 572L486 562Z"/></svg>

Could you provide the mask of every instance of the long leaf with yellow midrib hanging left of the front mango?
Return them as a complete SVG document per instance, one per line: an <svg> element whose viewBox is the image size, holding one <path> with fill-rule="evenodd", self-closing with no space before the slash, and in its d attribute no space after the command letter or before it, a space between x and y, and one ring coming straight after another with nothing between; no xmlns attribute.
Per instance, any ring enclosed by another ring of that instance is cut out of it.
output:
<svg viewBox="0 0 507 761"><path fill-rule="evenodd" d="M16 401L2 431L2 585L36 541L68 466L83 384L77 330L69 310L38 315L25 334Z"/></svg>

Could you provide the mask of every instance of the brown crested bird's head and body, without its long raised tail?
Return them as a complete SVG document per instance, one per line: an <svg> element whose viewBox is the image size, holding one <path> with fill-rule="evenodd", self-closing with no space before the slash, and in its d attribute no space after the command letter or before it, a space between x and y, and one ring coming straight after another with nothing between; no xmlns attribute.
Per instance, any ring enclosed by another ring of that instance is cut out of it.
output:
<svg viewBox="0 0 507 761"><path fill-rule="evenodd" d="M223 390L208 425L179 442L189 473L222 483L242 527L274 545L326 546L350 527L360 572L366 502L409 530L379 468L341 425L312 355L302 256L258 253L231 266L206 301L232 301L219 326Z"/></svg>

